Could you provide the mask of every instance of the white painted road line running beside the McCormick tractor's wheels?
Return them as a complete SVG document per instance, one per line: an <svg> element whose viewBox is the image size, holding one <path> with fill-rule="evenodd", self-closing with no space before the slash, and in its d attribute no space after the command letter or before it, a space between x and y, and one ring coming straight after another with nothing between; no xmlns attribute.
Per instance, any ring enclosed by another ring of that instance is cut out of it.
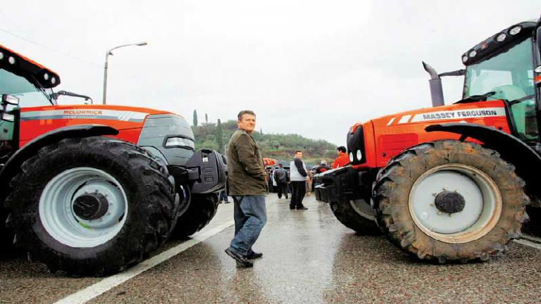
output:
<svg viewBox="0 0 541 304"><path fill-rule="evenodd" d="M132 279L138 274L141 274L145 270L149 270L150 268L160 264L161 262L173 258L175 255L178 255L178 253L185 251L186 249L196 245L197 243L209 239L209 237L218 234L224 229L232 226L232 224L234 224L232 220L220 224L218 227L211 229L208 232L204 232L200 235L194 236L193 239L190 239L189 241L185 241L178 246L170 248L168 251L163 251L163 253L149 258L148 260L144 260L143 262L140 262L139 264L135 265L129 270L126 270L125 272L120 272L119 274L115 274L111 277L106 277L105 279L102 279L96 284L88 286L87 288L81 289L80 291L77 291L76 293L73 293L66 298L58 300L55 304L86 303L87 301L92 300L93 298L96 298L103 293L106 293L106 291L115 288L116 286L124 283L125 281Z"/></svg>

